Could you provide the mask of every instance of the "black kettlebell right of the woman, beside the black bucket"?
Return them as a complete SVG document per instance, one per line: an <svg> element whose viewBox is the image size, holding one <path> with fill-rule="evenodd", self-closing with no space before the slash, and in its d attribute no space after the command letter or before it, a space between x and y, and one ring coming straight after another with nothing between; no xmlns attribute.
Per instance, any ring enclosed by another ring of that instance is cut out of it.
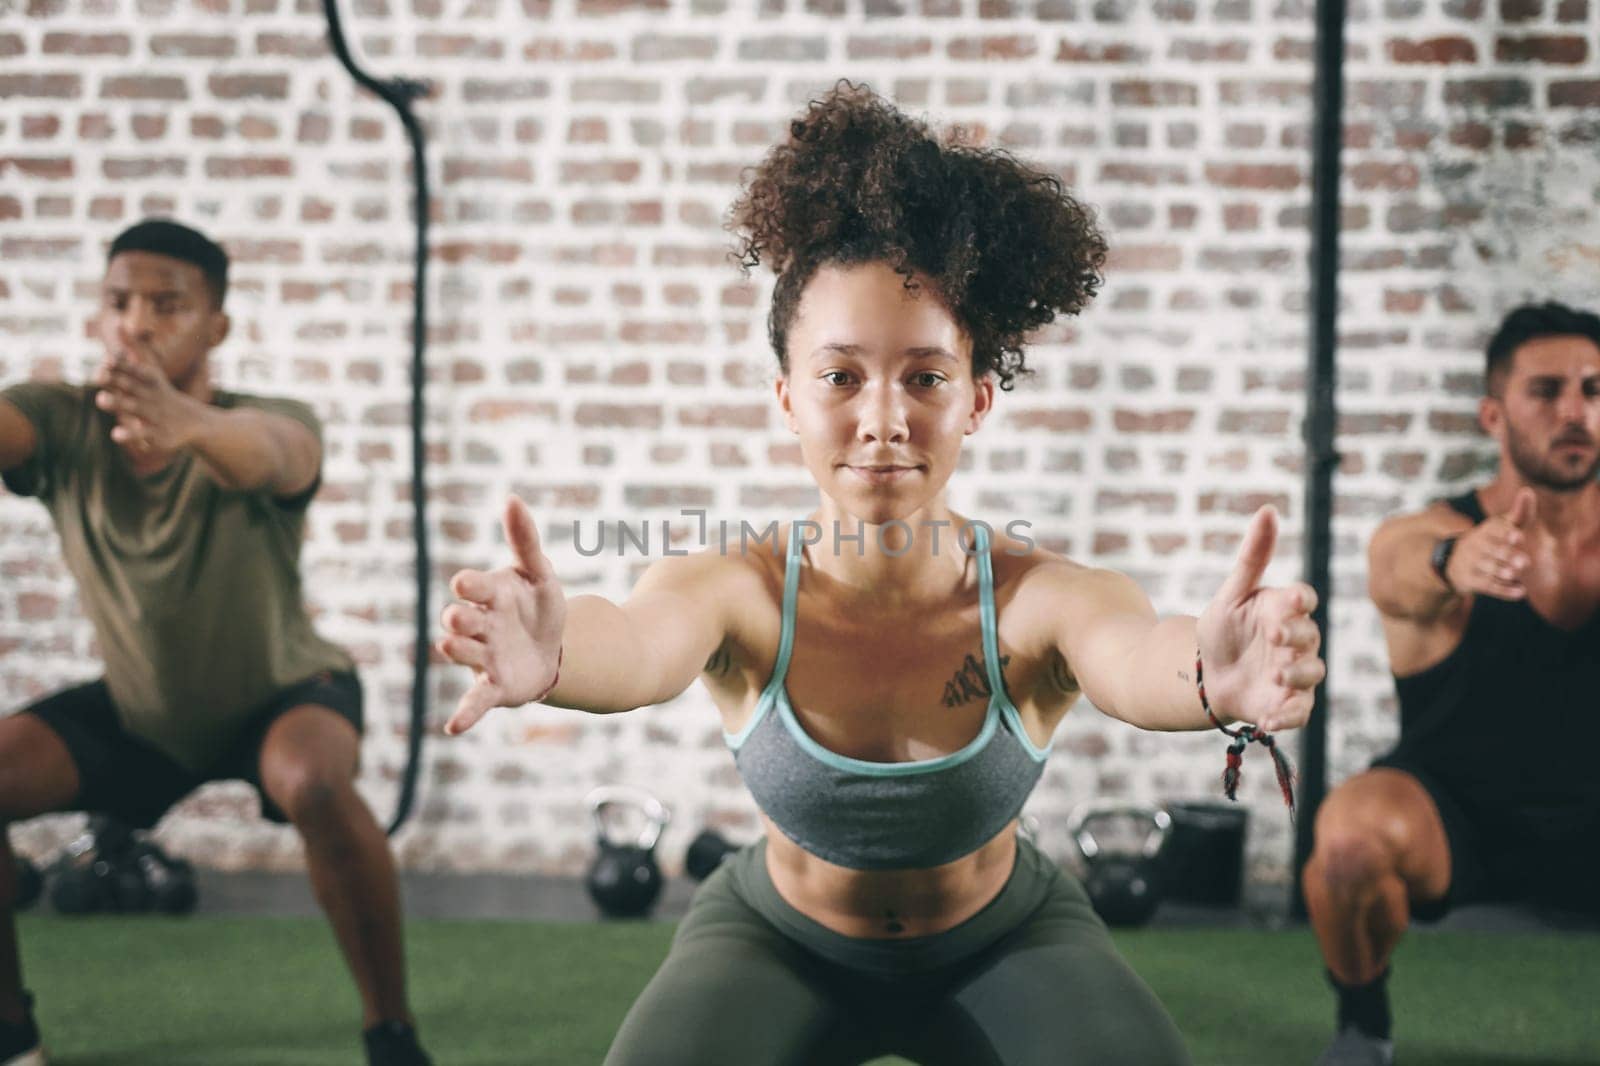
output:
<svg viewBox="0 0 1600 1066"><path fill-rule="evenodd" d="M1085 804L1069 823L1083 888L1107 925L1144 925L1162 903L1160 855L1173 828L1157 807Z"/></svg>

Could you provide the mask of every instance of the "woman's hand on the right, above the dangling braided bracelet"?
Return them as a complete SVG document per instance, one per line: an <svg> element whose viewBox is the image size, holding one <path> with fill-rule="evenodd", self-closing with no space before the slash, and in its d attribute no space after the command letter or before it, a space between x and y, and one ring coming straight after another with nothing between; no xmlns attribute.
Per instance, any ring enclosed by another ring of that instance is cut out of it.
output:
<svg viewBox="0 0 1600 1066"><path fill-rule="evenodd" d="M1304 725L1312 693L1328 672L1317 656L1322 632L1310 618L1317 592L1302 581L1261 586L1277 539L1277 511L1261 507L1245 530L1234 573L1195 621L1211 709L1224 722L1250 722L1267 733Z"/></svg>

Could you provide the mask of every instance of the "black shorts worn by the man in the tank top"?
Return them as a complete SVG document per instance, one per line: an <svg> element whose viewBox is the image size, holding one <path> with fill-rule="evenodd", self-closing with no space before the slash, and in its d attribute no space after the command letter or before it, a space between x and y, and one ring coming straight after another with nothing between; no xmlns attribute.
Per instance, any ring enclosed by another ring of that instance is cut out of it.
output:
<svg viewBox="0 0 1600 1066"><path fill-rule="evenodd" d="M1413 903L1414 917L1430 922L1467 903L1531 903L1600 916L1600 805L1541 810L1453 786L1400 752L1373 767L1416 778L1445 826L1450 888L1442 900Z"/></svg>

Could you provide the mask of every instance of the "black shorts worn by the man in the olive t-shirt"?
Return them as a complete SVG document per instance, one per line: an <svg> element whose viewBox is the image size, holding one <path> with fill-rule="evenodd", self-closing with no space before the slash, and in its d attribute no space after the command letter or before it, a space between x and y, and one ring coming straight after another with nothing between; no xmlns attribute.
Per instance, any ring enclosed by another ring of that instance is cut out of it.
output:
<svg viewBox="0 0 1600 1066"><path fill-rule="evenodd" d="M261 787L261 744L285 712L314 703L328 707L362 731L362 682L355 674L322 672L290 685L253 711L234 746L205 773L179 765L171 755L123 728L106 682L90 682L45 696L22 714L48 725L67 746L78 770L74 810L104 813L136 829L160 821L178 800L206 781L242 779L261 795L261 813L288 818Z"/></svg>

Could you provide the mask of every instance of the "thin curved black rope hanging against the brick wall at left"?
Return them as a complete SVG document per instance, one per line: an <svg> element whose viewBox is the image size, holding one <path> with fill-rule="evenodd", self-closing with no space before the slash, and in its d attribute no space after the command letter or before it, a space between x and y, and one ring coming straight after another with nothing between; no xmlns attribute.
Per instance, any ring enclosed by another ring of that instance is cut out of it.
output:
<svg viewBox="0 0 1600 1066"><path fill-rule="evenodd" d="M400 115L406 138L411 141L411 178L416 182L416 277L411 290L411 536L416 539L416 664L411 674L411 730L406 744L405 773L400 778L400 802L395 805L389 832L394 834L411 815L416 800L416 778L422 763L422 733L427 725L427 656L429 656L429 608L427 583L432 565L427 555L427 490L422 483L426 455L422 447L422 354L427 349L427 154L422 123L411 114L411 101L427 96L427 82L414 78L389 78L379 82L363 70L350 54L339 24L338 0L323 0L328 16L328 43L355 83L379 96Z"/></svg>

